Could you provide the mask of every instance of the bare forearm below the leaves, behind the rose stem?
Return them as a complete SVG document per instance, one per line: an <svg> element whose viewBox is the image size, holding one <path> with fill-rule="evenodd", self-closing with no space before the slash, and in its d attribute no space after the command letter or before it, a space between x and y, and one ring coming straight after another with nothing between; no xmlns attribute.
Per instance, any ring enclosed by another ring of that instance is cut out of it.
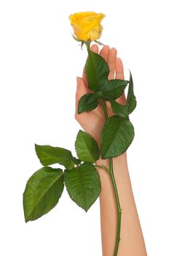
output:
<svg viewBox="0 0 169 256"><path fill-rule="evenodd" d="M97 165L109 167L109 160L99 159ZM122 208L122 223L118 256L145 256L146 247L141 231L130 176L127 168L126 154L113 159L114 177ZM111 177L106 170L98 168L101 177L101 238L103 256L112 256L117 233L117 206Z"/></svg>

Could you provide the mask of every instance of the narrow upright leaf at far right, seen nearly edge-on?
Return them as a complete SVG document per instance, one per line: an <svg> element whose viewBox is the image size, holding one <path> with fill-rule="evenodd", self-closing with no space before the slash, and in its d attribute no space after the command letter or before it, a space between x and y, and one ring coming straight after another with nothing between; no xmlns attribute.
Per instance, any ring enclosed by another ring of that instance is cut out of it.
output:
<svg viewBox="0 0 169 256"><path fill-rule="evenodd" d="M129 87L128 87L128 93L127 93L127 100L126 100L126 105L129 105L129 113L132 113L133 110L136 107L136 98L134 95L134 90L133 90L133 78L130 72L130 81L129 81Z"/></svg>

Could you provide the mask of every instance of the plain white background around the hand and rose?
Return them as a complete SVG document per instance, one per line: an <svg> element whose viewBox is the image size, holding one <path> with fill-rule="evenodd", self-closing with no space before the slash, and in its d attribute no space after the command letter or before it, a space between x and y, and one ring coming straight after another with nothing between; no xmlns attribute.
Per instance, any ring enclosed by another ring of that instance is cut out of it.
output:
<svg viewBox="0 0 169 256"><path fill-rule="evenodd" d="M41 167L34 143L74 151L76 75L87 53L72 38L68 15L86 10L106 14L101 42L117 48L133 73L130 178L148 255L169 255L167 4L0 1L1 255L101 256L98 200L86 214L64 189L49 214L27 224L22 203L26 181Z"/></svg>

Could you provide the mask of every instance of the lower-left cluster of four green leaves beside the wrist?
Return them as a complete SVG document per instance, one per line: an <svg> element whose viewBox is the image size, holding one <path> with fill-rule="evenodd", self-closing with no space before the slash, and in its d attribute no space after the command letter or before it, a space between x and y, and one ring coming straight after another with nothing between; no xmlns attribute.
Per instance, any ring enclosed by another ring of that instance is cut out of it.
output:
<svg viewBox="0 0 169 256"><path fill-rule="evenodd" d="M77 157L65 148L35 144L37 157L44 167L37 170L23 193L25 222L38 219L56 206L63 193L64 184L71 199L84 211L88 211L101 192L101 181L95 163L100 157L94 138L79 130L75 149ZM60 164L65 167L52 168Z"/></svg>

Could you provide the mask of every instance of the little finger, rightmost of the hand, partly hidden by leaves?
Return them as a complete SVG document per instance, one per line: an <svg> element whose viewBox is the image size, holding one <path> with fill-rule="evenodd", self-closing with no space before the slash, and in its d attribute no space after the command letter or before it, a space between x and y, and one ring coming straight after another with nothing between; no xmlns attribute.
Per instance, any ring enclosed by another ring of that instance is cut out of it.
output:
<svg viewBox="0 0 169 256"><path fill-rule="evenodd" d="M122 79L122 80L125 79L122 60L119 58L117 58L116 60L115 71L116 71L116 79ZM125 93L123 93L122 96L120 96L119 99L117 99L117 102L119 102L119 104L125 105L125 102L126 102Z"/></svg>

